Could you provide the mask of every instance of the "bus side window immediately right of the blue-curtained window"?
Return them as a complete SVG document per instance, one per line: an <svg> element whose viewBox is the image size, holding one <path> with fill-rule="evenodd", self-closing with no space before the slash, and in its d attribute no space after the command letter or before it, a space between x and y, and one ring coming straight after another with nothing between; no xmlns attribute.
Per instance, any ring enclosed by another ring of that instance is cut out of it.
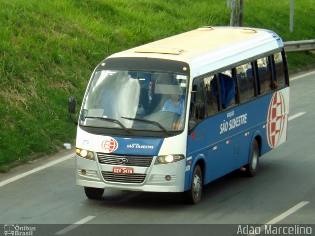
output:
<svg viewBox="0 0 315 236"><path fill-rule="evenodd" d="M236 67L236 78L240 102L246 102L255 96L252 63Z"/></svg>

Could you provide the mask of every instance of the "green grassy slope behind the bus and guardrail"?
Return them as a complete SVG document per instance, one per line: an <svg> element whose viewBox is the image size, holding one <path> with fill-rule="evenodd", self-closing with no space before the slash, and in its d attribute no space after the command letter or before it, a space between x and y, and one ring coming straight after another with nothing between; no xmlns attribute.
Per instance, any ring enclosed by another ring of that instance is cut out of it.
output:
<svg viewBox="0 0 315 236"><path fill-rule="evenodd" d="M105 57L200 26L227 26L226 0L0 0L0 171L73 143L67 97L81 104ZM315 0L244 0L244 26L313 39ZM291 70L315 64L289 53ZM78 105L78 108L79 108ZM78 109L77 109L78 110Z"/></svg>

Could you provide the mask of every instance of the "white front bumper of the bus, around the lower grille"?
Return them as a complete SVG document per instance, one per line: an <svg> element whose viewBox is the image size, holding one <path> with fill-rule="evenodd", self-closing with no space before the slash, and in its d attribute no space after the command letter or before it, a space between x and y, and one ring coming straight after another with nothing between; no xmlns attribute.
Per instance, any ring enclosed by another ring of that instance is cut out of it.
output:
<svg viewBox="0 0 315 236"><path fill-rule="evenodd" d="M76 184L85 187L129 191L183 192L186 159L154 165L156 158L156 156L153 157L149 167L130 166L133 168L134 174L124 177L121 174L113 174L113 167L117 165L100 164L97 158L95 161L76 155ZM83 171L84 174L86 173L85 175L82 174L82 170L85 170L85 172ZM108 180L108 175L111 176L110 180ZM135 178L137 181L134 180Z"/></svg>

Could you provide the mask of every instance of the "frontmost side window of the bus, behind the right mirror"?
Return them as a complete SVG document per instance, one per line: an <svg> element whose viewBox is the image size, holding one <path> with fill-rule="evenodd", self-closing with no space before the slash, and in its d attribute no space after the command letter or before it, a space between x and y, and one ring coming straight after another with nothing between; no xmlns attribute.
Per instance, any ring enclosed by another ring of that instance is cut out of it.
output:
<svg viewBox="0 0 315 236"><path fill-rule="evenodd" d="M189 127L194 127L206 117L205 93L202 78L195 79L192 85Z"/></svg>

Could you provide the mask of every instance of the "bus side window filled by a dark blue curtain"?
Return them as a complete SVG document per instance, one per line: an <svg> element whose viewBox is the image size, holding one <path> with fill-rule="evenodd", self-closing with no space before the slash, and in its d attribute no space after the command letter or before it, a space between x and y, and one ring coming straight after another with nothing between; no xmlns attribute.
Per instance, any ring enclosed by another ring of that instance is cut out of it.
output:
<svg viewBox="0 0 315 236"><path fill-rule="evenodd" d="M235 82L232 78L232 70L226 70L218 74L222 108L227 109L236 104Z"/></svg>

